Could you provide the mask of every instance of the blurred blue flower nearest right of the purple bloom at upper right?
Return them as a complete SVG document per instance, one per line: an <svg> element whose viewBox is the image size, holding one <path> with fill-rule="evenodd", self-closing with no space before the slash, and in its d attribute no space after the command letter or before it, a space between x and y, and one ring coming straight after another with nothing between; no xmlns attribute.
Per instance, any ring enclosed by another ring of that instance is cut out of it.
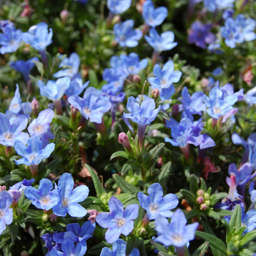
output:
<svg viewBox="0 0 256 256"><path fill-rule="evenodd" d="M227 20L225 20L225 26L220 28L220 34L225 38L225 43L230 48L235 48L236 42L244 42L241 29L239 29L233 18L227 18Z"/></svg>

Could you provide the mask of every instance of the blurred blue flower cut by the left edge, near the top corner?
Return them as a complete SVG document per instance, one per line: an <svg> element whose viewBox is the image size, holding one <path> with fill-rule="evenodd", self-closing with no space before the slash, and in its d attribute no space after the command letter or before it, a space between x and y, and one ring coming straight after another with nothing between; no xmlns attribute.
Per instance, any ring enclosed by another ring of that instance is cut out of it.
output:
<svg viewBox="0 0 256 256"><path fill-rule="evenodd" d="M0 53L13 53L15 52L21 41L22 31L20 29L15 29L14 26L8 24L4 26L4 33L0 33Z"/></svg>

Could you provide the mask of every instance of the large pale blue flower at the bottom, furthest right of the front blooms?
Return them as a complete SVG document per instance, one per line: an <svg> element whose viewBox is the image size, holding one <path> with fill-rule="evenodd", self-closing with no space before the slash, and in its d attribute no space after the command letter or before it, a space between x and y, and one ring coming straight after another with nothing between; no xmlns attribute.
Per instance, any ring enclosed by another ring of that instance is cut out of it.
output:
<svg viewBox="0 0 256 256"><path fill-rule="evenodd" d="M154 241L176 247L183 247L188 241L194 240L195 230L199 226L198 222L187 225L187 219L181 209L175 211L170 223L165 217L158 217L154 223L158 232L158 237Z"/></svg>

